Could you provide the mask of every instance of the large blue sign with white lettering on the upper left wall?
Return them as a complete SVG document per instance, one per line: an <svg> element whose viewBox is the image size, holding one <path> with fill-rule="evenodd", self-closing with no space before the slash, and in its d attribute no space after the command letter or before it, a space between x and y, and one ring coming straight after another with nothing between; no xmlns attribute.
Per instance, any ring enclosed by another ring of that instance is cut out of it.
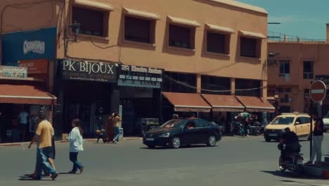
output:
<svg viewBox="0 0 329 186"><path fill-rule="evenodd" d="M1 35L3 63L18 66L20 60L56 58L56 27Z"/></svg>

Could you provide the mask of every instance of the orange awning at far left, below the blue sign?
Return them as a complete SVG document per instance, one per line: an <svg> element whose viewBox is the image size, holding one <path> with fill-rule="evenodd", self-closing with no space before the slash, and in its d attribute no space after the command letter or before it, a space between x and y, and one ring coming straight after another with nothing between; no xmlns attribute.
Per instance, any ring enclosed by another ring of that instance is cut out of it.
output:
<svg viewBox="0 0 329 186"><path fill-rule="evenodd" d="M32 85L0 85L0 103L56 104L56 97Z"/></svg>

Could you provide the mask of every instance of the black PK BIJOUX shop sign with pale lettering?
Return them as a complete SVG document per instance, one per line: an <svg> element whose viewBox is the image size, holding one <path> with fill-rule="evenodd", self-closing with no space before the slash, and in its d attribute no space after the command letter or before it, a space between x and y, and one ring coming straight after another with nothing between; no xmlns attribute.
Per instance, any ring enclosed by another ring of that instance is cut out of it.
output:
<svg viewBox="0 0 329 186"><path fill-rule="evenodd" d="M113 63L60 60L60 76L63 80L117 82L117 66Z"/></svg>

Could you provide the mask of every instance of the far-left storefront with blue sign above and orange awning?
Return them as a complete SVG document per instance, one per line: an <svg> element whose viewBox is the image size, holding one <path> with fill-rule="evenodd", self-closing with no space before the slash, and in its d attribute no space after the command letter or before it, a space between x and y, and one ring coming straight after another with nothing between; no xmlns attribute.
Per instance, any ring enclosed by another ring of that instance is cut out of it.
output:
<svg viewBox="0 0 329 186"><path fill-rule="evenodd" d="M1 142L30 140L41 107L53 120L56 97L49 93L49 70L56 56L56 30L49 27L1 35L1 63L5 65L0 66Z"/></svg>

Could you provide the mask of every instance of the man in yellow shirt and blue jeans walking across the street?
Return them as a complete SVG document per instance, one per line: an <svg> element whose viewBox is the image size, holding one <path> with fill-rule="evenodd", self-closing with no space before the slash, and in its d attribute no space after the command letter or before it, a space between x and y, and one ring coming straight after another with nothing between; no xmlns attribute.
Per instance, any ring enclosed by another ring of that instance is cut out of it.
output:
<svg viewBox="0 0 329 186"><path fill-rule="evenodd" d="M51 174L51 179L55 180L58 173L51 167L48 162L49 156L51 154L51 137L53 137L53 126L46 120L46 112L39 111L40 123L38 125L37 131L30 142L29 148L31 148L34 142L38 141L37 150L37 176L34 180L41 180L42 168Z"/></svg>

